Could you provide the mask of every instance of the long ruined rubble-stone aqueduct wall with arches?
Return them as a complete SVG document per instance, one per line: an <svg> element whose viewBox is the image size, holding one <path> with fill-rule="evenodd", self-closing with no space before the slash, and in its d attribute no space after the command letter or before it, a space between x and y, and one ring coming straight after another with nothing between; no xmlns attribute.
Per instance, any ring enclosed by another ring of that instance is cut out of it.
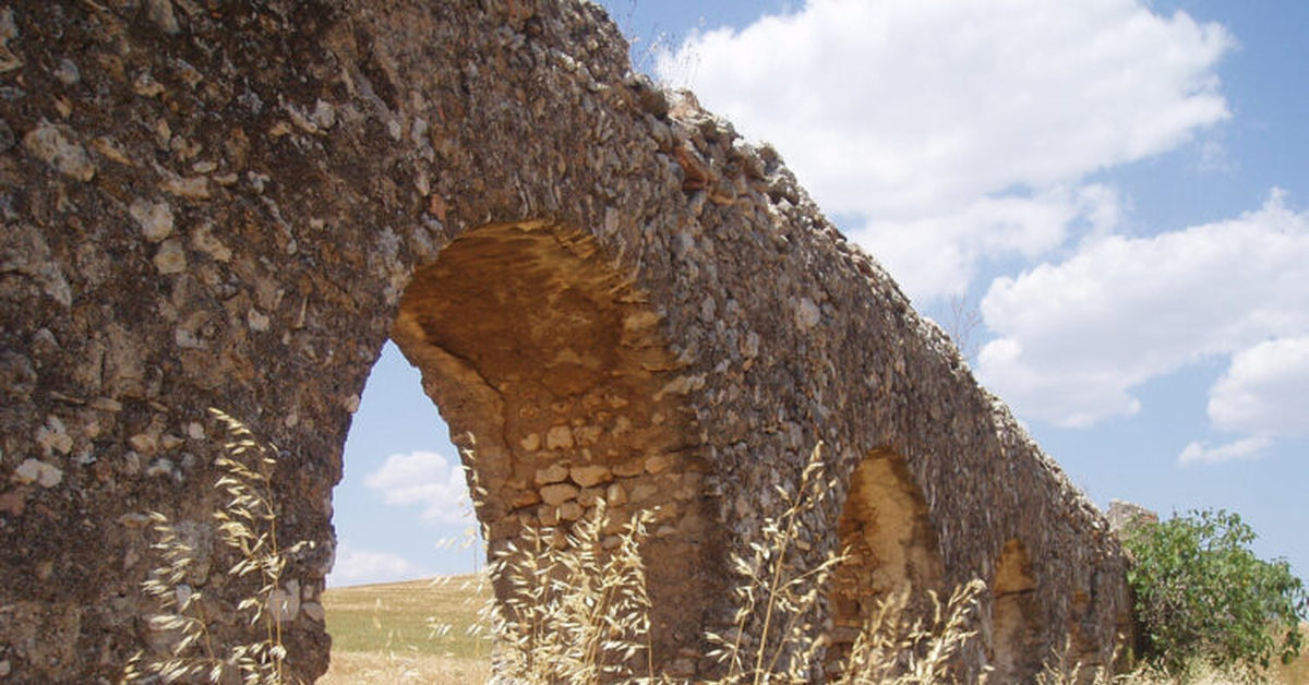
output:
<svg viewBox="0 0 1309 685"><path fill-rule="evenodd" d="M0 7L0 668L114 682L160 648L144 513L213 604L223 407L283 448L289 664L317 677L331 489L394 339L475 440L493 541L660 506L657 663L730 622L726 558L814 444L809 559L869 599L990 583L970 669L1103 663L1101 515L850 245L779 155L630 73L560 0L17 0ZM467 437L465 439L467 440ZM226 633L224 633L226 631Z"/></svg>

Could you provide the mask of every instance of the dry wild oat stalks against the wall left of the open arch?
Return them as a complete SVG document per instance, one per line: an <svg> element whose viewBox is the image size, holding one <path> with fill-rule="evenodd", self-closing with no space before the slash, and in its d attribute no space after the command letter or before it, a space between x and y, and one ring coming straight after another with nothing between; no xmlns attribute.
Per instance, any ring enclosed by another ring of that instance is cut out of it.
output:
<svg viewBox="0 0 1309 685"><path fill-rule="evenodd" d="M209 413L221 422L230 436L226 453L215 465L221 475L215 482L228 499L212 513L219 540L237 553L228 568L232 578L255 576L259 588L237 604L237 613L249 625L262 625L263 639L223 650L211 635L204 596L185 583L194 566L196 550L185 541L177 525L160 512L151 512L157 541L151 545L164 557L164 566L154 568L141 584L145 595L154 597L165 613L149 618L154 630L175 630L181 638L164 655L137 652L127 664L124 682L157 676L164 682L225 682L229 673L246 685L283 685L287 650L281 622L291 597L280 591L287 559L313 542L300 541L283 547L278 540L278 508L272 492L278 448L259 443L236 418L217 410Z"/></svg>

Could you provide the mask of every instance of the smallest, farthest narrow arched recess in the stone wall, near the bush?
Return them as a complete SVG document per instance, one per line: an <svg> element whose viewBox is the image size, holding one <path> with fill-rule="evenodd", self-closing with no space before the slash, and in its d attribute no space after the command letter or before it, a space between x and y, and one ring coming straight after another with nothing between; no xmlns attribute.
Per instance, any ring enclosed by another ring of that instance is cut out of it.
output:
<svg viewBox="0 0 1309 685"><path fill-rule="evenodd" d="M1034 682L1049 655L1037 579L1021 541L1009 540L1000 550L991 595L991 677L996 682Z"/></svg>

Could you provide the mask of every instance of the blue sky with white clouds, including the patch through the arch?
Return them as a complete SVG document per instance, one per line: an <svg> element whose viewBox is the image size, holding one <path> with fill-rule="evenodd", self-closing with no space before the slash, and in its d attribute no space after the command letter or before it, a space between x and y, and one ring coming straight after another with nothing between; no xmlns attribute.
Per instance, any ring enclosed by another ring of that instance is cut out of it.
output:
<svg viewBox="0 0 1309 685"><path fill-rule="evenodd" d="M1309 3L605 3L774 143L1097 503L1223 507L1309 576ZM387 344L330 582L466 571L445 424Z"/></svg>

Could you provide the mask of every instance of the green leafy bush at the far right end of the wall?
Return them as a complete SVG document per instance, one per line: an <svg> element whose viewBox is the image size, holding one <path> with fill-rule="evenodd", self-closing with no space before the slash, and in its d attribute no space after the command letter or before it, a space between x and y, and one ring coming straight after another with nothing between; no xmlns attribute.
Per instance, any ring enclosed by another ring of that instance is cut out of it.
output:
<svg viewBox="0 0 1309 685"><path fill-rule="evenodd" d="M1192 511L1127 530L1127 579L1147 638L1145 656L1182 675L1199 661L1267 668L1300 654L1309 597L1284 559L1250 551L1254 530L1236 513Z"/></svg>

